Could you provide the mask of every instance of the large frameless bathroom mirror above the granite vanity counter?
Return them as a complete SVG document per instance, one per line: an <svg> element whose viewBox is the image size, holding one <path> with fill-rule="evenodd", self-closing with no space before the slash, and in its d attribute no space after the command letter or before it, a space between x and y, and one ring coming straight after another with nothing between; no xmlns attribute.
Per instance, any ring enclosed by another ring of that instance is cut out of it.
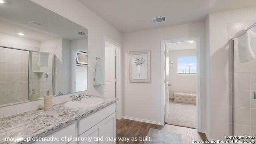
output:
<svg viewBox="0 0 256 144"><path fill-rule="evenodd" d="M0 106L87 90L88 30L30 0L0 3Z"/></svg>

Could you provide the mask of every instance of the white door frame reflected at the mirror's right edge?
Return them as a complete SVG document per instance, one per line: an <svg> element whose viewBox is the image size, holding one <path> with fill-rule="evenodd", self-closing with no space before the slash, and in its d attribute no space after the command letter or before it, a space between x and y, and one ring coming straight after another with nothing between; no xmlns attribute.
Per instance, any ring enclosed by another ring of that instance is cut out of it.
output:
<svg viewBox="0 0 256 144"><path fill-rule="evenodd" d="M71 53L71 91L72 93L76 91L76 52L86 51L87 49L72 49ZM88 53L88 50L87 50ZM87 84L88 84L88 65L87 65ZM88 90L88 85L87 85ZM86 90L86 91L87 91Z"/></svg>

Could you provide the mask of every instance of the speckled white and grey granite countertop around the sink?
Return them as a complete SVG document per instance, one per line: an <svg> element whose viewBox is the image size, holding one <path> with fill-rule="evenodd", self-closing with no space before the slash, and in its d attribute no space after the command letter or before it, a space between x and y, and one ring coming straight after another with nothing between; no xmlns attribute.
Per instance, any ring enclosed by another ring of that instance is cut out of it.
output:
<svg viewBox="0 0 256 144"><path fill-rule="evenodd" d="M96 96L92 96L96 97ZM97 96L99 97L99 96ZM0 144L14 143L4 141L3 137L44 137L50 132L115 103L116 98L101 97L103 103L84 109L69 109L64 103L53 105L50 111L43 108L0 119ZM19 142L26 143L26 142Z"/></svg>

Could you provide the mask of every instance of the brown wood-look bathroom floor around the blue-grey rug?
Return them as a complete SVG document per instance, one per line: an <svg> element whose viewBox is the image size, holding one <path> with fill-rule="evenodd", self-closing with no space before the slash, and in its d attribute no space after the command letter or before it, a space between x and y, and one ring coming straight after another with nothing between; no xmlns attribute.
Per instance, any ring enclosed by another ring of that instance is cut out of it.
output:
<svg viewBox="0 0 256 144"><path fill-rule="evenodd" d="M127 144L123 141L118 141L121 137L146 137L150 128L164 130L167 132L174 132L182 135L183 144L192 144L192 140L207 140L205 134L197 132L196 129L186 128L174 125L154 125L143 123L139 121L132 121L127 119L116 120L116 144ZM128 142L128 144L143 144L144 142Z"/></svg>

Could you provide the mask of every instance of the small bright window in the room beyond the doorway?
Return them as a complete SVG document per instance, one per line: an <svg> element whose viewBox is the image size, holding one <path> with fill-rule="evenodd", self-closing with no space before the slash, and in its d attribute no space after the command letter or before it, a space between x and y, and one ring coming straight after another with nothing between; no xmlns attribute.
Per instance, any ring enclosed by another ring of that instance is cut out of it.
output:
<svg viewBox="0 0 256 144"><path fill-rule="evenodd" d="M178 74L196 74L196 56L178 57Z"/></svg>

